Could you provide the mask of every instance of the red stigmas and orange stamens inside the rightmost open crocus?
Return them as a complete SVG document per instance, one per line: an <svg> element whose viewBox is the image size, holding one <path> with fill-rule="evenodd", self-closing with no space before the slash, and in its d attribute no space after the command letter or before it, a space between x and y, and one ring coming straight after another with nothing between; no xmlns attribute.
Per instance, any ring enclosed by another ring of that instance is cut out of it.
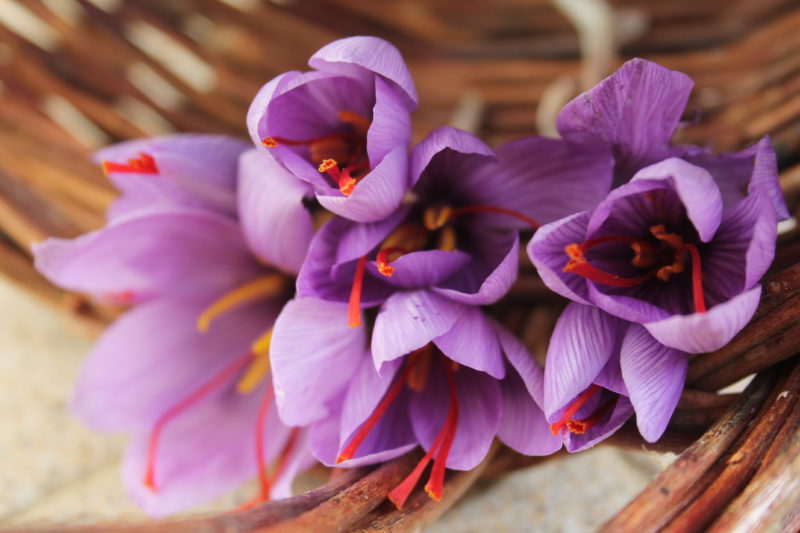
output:
<svg viewBox="0 0 800 533"><path fill-rule="evenodd" d="M676 233L669 233L664 224L652 226L650 234L655 242L624 235L606 235L580 244L569 244L564 247L569 260L563 271L577 274L601 285L628 288L652 278L663 282L669 281L673 274L684 271L684 258L688 254L692 264L692 300L695 312L706 312L702 263L697 246L684 242L683 237ZM628 244L633 252L630 263L636 268L646 269L646 272L639 276L621 276L595 267L586 258L586 252L596 246L617 243Z"/></svg>

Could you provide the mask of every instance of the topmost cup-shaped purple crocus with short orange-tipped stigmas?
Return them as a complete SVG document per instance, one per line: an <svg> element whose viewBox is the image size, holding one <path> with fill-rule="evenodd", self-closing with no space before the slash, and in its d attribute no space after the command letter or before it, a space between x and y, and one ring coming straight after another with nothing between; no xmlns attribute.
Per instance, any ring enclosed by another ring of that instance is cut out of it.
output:
<svg viewBox="0 0 800 533"><path fill-rule="evenodd" d="M381 220L408 188L411 75L397 49L376 37L334 41L309 65L261 89L247 115L250 135L311 184L326 209Z"/></svg>

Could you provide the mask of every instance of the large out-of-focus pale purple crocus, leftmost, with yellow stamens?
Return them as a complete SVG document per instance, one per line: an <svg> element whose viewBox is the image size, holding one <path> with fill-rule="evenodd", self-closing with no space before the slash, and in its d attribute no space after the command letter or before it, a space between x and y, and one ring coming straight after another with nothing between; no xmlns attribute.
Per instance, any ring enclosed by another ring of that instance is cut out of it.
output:
<svg viewBox="0 0 800 533"><path fill-rule="evenodd" d="M57 285L134 305L89 355L73 409L96 430L131 434L124 483L154 516L254 476L259 499L288 496L311 461L305 432L276 415L268 361L271 325L311 236L307 191L246 147L187 135L104 150L123 190L109 224L34 247ZM281 180L282 208L265 213L252 199ZM295 239L277 249L269 217Z"/></svg>

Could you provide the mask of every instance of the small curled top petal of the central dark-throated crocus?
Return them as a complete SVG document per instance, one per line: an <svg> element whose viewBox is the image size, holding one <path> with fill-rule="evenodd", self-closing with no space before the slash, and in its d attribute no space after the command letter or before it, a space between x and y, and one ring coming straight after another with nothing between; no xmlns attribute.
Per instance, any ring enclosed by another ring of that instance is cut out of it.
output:
<svg viewBox="0 0 800 533"><path fill-rule="evenodd" d="M447 153L446 151L452 152L454 158L467 154L485 156L487 161L494 159L492 149L474 135L449 126L437 128L422 139L411 152L411 185L419 181L423 172L431 166L434 157ZM456 180L469 172L469 162L473 161L463 156L459 159L467 162L466 168L460 168L461 165L458 164L443 165L447 167L445 172L454 174L452 178Z"/></svg>

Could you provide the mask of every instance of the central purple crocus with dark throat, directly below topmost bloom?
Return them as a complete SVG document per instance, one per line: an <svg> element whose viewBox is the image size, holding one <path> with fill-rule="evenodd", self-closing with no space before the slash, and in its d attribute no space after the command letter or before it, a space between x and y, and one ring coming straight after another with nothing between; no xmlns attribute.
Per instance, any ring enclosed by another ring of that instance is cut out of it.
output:
<svg viewBox="0 0 800 533"><path fill-rule="evenodd" d="M384 314L436 306L447 318L429 327L442 334L456 303L497 301L516 278L517 228L595 205L608 191L610 169L607 152L573 152L555 139L522 139L493 152L463 131L435 130L412 153L411 203L380 222L331 220L312 241L298 294L349 302L352 326L362 306L383 303L374 355L404 355L430 339L417 339L425 333L404 329L403 320L385 326ZM409 303L409 291L419 290L430 301Z"/></svg>

